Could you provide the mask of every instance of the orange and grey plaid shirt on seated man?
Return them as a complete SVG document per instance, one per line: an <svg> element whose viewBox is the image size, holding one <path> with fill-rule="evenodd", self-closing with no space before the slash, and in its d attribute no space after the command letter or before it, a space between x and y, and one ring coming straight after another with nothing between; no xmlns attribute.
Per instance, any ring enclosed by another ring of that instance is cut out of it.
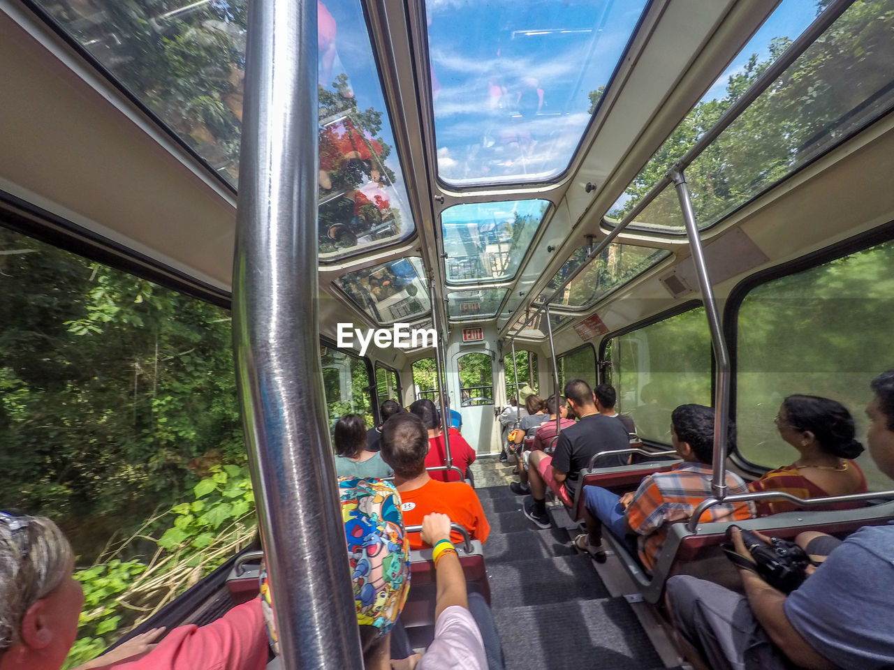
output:
<svg viewBox="0 0 894 670"><path fill-rule="evenodd" d="M667 473L654 473L643 478L627 508L630 528L639 535L639 557L652 570L655 556L661 551L667 533L664 524L688 521L704 498L713 497L711 465L681 463ZM738 474L726 473L730 492L746 493L746 483ZM755 515L752 502L719 504L704 512L700 522L748 519Z"/></svg>

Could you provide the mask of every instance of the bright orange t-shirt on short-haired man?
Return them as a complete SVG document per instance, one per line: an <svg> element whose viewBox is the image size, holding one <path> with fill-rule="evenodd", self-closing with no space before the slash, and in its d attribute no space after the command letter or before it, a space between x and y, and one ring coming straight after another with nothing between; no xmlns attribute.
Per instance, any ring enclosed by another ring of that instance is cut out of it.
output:
<svg viewBox="0 0 894 670"><path fill-rule="evenodd" d="M485 518L485 510L475 494L475 489L466 482L438 482L429 480L418 489L401 491L403 523L407 526L420 525L425 515L432 512L450 516L453 523L459 523L468 531L472 540L487 540L491 531ZM409 548L426 547L419 533L410 532ZM453 543L462 541L460 533L451 532Z"/></svg>

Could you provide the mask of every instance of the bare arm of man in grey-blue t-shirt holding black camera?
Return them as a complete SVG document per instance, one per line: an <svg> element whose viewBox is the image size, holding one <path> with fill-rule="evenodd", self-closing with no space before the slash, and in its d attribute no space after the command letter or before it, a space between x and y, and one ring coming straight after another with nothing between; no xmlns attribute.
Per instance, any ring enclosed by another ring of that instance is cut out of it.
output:
<svg viewBox="0 0 894 670"><path fill-rule="evenodd" d="M750 560L751 557L738 529L733 531L732 538L738 554ZM748 606L751 607L755 618L770 636L773 644L779 647L792 663L804 667L806 670L834 670L835 666L814 651L789 623L782 607L786 599L785 594L774 589L758 574L746 568L740 567L739 575L745 588Z"/></svg>

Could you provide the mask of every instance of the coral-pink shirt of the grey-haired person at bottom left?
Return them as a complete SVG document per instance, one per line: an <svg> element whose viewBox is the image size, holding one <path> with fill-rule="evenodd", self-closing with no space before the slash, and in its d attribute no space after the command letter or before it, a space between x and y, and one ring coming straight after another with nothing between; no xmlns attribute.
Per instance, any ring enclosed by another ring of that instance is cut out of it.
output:
<svg viewBox="0 0 894 670"><path fill-rule="evenodd" d="M178 626L155 649L136 660L107 668L114 670L264 670L267 633L261 600L233 607L205 626Z"/></svg>

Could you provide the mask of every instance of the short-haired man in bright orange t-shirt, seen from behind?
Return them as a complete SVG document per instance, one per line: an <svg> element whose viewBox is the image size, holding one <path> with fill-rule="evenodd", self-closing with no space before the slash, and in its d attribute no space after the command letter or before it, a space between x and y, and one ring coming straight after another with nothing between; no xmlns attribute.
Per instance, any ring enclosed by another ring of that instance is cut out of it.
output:
<svg viewBox="0 0 894 670"><path fill-rule="evenodd" d="M484 542L490 526L475 490L466 482L440 482L428 476L427 451L426 426L417 415L395 415L385 422L382 457L394 471L394 485L401 493L404 523L417 525L422 523L425 515L438 512L463 526L473 540ZM462 541L460 533L454 532L452 540ZM425 542L417 532L412 532L409 533L409 546L422 549Z"/></svg>

